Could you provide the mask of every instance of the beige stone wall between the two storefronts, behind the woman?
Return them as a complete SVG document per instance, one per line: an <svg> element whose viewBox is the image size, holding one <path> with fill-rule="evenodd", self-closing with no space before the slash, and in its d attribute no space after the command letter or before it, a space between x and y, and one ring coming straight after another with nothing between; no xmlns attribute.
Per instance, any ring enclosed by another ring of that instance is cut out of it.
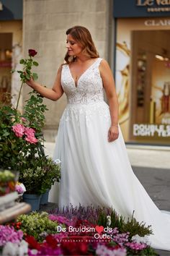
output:
<svg viewBox="0 0 170 256"><path fill-rule="evenodd" d="M109 36L112 30L112 0L24 0L23 48L37 50L36 68L39 82L51 88L55 75L66 54L66 30L73 25L83 25L91 35L102 58L109 61ZM111 58L112 59L112 58ZM24 87L23 99L30 88ZM53 102L45 99L45 138L53 141L58 123L66 106L66 96Z"/></svg>

